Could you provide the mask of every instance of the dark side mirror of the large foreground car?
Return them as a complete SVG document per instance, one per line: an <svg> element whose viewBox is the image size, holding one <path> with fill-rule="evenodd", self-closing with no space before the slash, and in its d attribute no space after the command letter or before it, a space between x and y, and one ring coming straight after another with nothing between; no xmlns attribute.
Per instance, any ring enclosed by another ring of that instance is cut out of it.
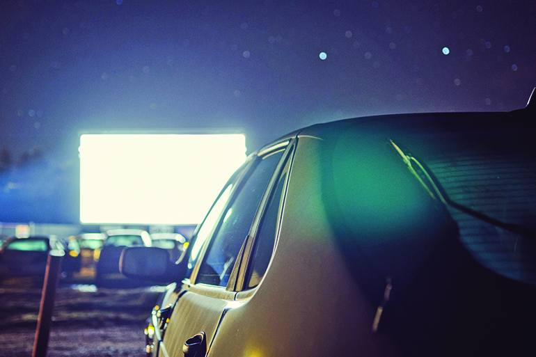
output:
<svg viewBox="0 0 536 357"><path fill-rule="evenodd" d="M121 252L119 270L127 278L173 283L186 276L187 259L175 264L166 249L131 246Z"/></svg>

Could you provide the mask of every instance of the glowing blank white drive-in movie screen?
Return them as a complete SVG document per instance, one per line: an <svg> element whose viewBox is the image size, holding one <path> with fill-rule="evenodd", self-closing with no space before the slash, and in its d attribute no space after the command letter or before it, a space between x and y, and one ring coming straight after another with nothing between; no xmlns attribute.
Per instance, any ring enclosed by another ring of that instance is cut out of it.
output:
<svg viewBox="0 0 536 357"><path fill-rule="evenodd" d="M80 221L200 223L246 158L244 134L81 134Z"/></svg>

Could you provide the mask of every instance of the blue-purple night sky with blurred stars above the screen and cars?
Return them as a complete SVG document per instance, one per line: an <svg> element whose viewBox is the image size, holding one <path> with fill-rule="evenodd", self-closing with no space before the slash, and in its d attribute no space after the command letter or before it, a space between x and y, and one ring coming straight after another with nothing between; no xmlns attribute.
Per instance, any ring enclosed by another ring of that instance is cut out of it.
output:
<svg viewBox="0 0 536 357"><path fill-rule="evenodd" d="M58 196L80 130L242 128L251 152L315 122L519 109L536 86L533 1L4 0L0 26L4 204L39 164Z"/></svg>

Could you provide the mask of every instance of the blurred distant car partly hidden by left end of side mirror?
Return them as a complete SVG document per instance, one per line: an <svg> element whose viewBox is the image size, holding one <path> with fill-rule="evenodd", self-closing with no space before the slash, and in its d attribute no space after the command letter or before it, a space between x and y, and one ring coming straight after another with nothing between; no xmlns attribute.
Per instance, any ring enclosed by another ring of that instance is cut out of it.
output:
<svg viewBox="0 0 536 357"><path fill-rule="evenodd" d="M151 246L150 235L145 230L117 229L108 230L106 239L95 262L95 284L100 287L123 287L134 283L126 280L119 271L121 251L126 246Z"/></svg>

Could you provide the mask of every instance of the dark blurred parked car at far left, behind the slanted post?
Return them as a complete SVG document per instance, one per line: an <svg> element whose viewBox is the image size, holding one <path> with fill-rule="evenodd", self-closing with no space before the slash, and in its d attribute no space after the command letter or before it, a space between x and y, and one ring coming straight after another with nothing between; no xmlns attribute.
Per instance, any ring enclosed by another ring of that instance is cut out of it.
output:
<svg viewBox="0 0 536 357"><path fill-rule="evenodd" d="M65 260L65 246L56 237L31 236L10 237L0 246L0 281L13 278L28 278L35 285L45 280L50 251L61 251L64 256L61 276L72 275L75 269L70 260Z"/></svg>

